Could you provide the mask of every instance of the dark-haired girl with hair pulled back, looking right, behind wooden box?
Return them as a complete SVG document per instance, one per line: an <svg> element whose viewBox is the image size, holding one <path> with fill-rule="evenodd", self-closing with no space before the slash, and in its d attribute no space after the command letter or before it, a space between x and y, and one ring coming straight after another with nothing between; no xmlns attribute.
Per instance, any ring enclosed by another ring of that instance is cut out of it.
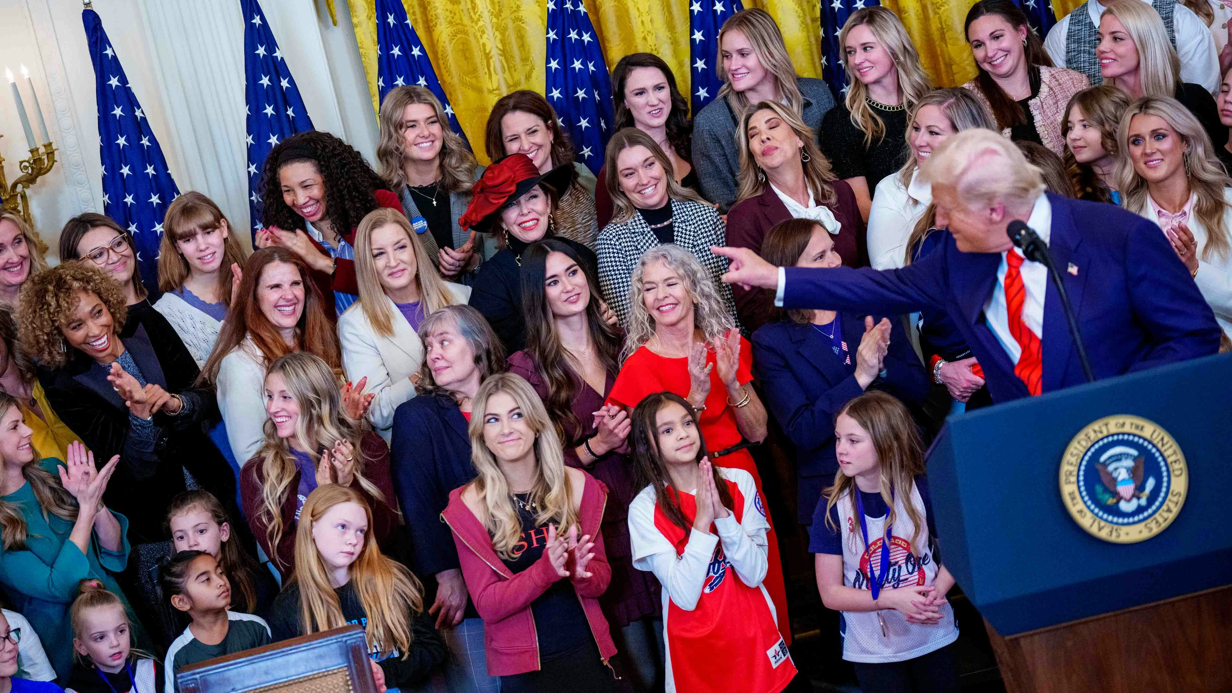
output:
<svg viewBox="0 0 1232 693"><path fill-rule="evenodd" d="M191 619L166 650L168 693L180 689L175 675L188 665L271 642L265 619L230 610L230 583L209 554L180 551L163 566L159 583L163 599Z"/></svg>

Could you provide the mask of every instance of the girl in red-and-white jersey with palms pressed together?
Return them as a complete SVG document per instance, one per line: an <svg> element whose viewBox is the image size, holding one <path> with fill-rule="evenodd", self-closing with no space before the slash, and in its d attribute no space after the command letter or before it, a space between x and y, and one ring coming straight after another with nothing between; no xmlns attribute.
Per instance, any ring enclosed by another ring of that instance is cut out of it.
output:
<svg viewBox="0 0 1232 693"><path fill-rule="evenodd" d="M633 409L630 440L646 483L628 508L633 565L663 583L668 693L782 691L796 665L761 584L770 523L753 476L710 464L696 412L670 392Z"/></svg>

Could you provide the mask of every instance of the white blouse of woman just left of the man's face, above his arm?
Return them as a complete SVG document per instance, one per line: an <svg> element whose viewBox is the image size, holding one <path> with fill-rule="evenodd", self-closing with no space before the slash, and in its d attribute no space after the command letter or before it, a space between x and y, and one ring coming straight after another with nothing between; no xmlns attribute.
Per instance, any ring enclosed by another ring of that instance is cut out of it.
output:
<svg viewBox="0 0 1232 693"><path fill-rule="evenodd" d="M876 270L894 270L907 259L907 242L917 222L933 202L933 186L918 182L919 169L910 185L903 187L898 174L887 175L872 194L869 211L869 264Z"/></svg>

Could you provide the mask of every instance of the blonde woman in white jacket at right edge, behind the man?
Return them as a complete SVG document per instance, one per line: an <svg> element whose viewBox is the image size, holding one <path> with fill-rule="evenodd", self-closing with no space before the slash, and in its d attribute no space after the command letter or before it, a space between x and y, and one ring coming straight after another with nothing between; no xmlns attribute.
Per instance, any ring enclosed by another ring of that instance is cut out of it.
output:
<svg viewBox="0 0 1232 693"><path fill-rule="evenodd" d="M1125 208L1159 224L1232 337L1232 180L1211 141L1181 104L1154 96L1130 106L1119 139Z"/></svg>

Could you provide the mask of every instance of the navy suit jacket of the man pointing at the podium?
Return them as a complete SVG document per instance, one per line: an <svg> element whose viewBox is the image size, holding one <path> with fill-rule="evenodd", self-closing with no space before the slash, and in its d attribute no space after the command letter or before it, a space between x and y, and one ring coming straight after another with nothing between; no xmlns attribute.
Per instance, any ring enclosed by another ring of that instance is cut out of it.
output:
<svg viewBox="0 0 1232 693"><path fill-rule="evenodd" d="M1096 379L1218 351L1215 313L1158 226L1114 205L1046 195L1052 256ZM941 308L979 360L993 401L1008 402L1029 392L984 319L1000 261L1000 253L962 253L950 237L898 270L787 268L784 306L888 314ZM1060 301L1050 281L1041 337L1044 392L1087 380Z"/></svg>

